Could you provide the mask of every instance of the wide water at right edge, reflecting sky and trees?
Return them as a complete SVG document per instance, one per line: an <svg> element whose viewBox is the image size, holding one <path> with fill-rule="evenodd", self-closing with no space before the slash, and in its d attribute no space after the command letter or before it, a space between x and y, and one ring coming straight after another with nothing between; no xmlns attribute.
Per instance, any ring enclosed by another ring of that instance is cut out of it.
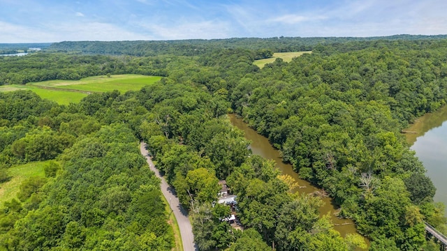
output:
<svg viewBox="0 0 447 251"><path fill-rule="evenodd" d="M447 204L447 105L417 119L407 132L406 141L437 188L434 201Z"/></svg>

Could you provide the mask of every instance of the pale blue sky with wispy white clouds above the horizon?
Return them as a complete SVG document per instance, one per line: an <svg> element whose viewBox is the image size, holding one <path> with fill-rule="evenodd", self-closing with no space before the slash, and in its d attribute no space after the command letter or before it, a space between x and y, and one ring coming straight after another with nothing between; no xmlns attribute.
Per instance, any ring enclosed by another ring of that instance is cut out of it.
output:
<svg viewBox="0 0 447 251"><path fill-rule="evenodd" d="M447 34L447 0L0 0L0 43Z"/></svg>

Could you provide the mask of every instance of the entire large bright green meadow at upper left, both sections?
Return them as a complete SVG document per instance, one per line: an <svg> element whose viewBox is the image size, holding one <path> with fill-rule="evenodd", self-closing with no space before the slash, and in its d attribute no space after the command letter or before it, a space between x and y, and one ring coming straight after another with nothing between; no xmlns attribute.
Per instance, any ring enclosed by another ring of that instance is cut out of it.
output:
<svg viewBox="0 0 447 251"><path fill-rule="evenodd" d="M89 92L106 92L118 90L138 91L143 86L158 82L161 77L145 75L110 75L85 77L80 80L49 80L43 82L31 82L29 84L12 84L0 86L0 91L31 90L48 100L53 100L59 105L68 105L71 102L79 102Z"/></svg>

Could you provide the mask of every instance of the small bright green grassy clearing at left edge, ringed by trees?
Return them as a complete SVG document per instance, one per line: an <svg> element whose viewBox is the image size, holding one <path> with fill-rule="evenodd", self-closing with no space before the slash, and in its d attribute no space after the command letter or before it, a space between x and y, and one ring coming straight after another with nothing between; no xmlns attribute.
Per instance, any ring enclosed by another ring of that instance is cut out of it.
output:
<svg viewBox="0 0 447 251"><path fill-rule="evenodd" d="M24 165L17 165L8 169L8 175L12 177L10 181L0 184L0 205L5 201L17 199L17 192L20 190L20 184L24 180L33 176L45 177L43 167L47 165L47 161L29 162Z"/></svg>

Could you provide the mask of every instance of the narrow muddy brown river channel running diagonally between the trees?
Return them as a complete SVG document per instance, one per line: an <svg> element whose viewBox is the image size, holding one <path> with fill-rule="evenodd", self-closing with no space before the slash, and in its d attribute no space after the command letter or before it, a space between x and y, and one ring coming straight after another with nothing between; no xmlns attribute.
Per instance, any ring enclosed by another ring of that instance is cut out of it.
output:
<svg viewBox="0 0 447 251"><path fill-rule="evenodd" d="M259 135L258 132L249 128L247 123L244 123L242 119L237 118L235 114L230 114L230 121L233 126L236 126L240 130L243 130L245 133L245 138L251 141L251 151L254 154L261 155L263 158L274 160L276 162L276 166L281 170L282 174L288 174L292 176L295 181L298 181L298 185L300 188L296 188L294 192L305 192L312 193L318 190L311 183L299 178L298 174L293 171L292 165L286 164L282 162L281 154L277 149L274 149L270 144L266 137ZM356 225L354 225L352 220L349 219L340 219L334 214L337 211L337 208L331 203L331 199L329 197L323 198L324 205L320 208L320 215L325 215L330 212L331 220L334 223L334 229L339 231L342 236L346 236L346 234L357 233ZM367 240L365 240L367 241Z"/></svg>

